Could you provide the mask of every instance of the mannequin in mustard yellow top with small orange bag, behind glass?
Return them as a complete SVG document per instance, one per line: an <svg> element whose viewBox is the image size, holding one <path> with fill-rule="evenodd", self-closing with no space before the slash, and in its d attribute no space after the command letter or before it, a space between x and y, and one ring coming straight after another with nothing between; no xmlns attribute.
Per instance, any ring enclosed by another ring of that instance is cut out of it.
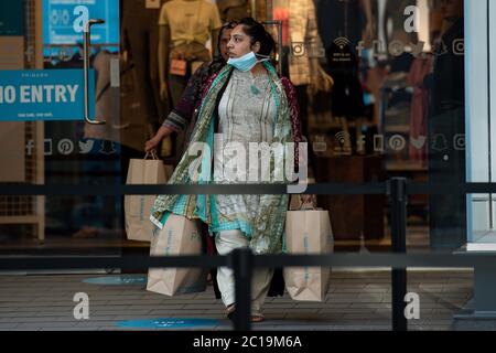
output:
<svg viewBox="0 0 496 353"><path fill-rule="evenodd" d="M205 44L209 35L212 47L217 47L220 18L208 0L174 0L162 7L159 25L160 96L166 100L170 94L175 106L192 72L211 61Z"/></svg>

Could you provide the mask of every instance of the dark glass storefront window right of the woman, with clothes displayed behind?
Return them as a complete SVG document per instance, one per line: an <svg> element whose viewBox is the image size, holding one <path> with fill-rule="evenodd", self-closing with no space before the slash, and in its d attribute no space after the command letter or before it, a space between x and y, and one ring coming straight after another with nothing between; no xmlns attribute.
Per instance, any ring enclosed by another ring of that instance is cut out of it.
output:
<svg viewBox="0 0 496 353"><path fill-rule="evenodd" d="M281 23L281 71L299 92L317 183L465 182L463 1L273 0L267 17ZM337 238L387 237L384 199L319 201ZM463 194L412 196L409 208L429 248L466 243Z"/></svg>

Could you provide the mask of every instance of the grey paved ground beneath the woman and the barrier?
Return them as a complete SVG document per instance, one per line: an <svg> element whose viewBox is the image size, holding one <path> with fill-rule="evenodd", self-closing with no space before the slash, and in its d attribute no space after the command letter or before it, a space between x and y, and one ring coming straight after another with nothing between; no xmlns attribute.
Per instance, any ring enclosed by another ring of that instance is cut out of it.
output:
<svg viewBox="0 0 496 353"><path fill-rule="evenodd" d="M122 330L119 321L162 318L214 319L217 323L204 329L230 329L212 286L169 298L142 284L83 282L91 277L99 276L0 276L0 330ZM420 298L420 319L410 320L409 329L452 329L453 314L470 300L472 286L470 270L409 271L408 291ZM88 295L88 320L74 318L77 292ZM325 302L299 302L285 295L268 298L263 312L267 321L255 330L390 330L390 272L336 269Z"/></svg>

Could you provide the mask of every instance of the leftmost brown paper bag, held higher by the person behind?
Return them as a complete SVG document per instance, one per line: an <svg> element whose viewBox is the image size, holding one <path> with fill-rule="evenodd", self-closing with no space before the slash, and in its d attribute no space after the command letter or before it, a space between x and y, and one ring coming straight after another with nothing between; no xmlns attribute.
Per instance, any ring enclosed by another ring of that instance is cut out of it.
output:
<svg viewBox="0 0 496 353"><path fill-rule="evenodd" d="M127 184L164 184L169 175L161 160L151 153L153 160L131 159L129 161ZM150 211L157 196L126 195L126 233L129 240L151 242L153 223L150 222Z"/></svg>

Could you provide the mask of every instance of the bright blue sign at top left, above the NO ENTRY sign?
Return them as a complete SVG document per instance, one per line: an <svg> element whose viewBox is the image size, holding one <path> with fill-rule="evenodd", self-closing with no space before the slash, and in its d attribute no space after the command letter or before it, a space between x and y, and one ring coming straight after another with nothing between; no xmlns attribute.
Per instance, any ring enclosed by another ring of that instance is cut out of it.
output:
<svg viewBox="0 0 496 353"><path fill-rule="evenodd" d="M43 0L43 43L83 43L89 19L105 20L91 26L91 44L119 43L119 0Z"/></svg>

